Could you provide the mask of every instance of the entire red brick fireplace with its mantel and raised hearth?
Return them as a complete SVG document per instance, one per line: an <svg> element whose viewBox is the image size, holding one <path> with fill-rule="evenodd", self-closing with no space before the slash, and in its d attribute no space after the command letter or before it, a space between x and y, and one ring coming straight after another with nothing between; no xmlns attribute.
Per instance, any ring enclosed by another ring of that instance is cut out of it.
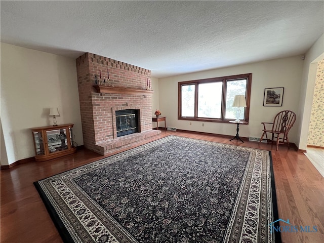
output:
<svg viewBox="0 0 324 243"><path fill-rule="evenodd" d="M86 148L108 155L161 133L152 130L153 92L147 91L150 70L86 53L76 59L76 71ZM136 133L117 137L116 111L120 110L137 110Z"/></svg>

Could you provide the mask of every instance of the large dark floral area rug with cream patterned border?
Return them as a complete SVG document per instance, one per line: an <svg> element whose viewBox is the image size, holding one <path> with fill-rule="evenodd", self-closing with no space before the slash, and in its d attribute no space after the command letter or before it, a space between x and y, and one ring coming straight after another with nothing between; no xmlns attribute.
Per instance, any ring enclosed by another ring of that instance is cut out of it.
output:
<svg viewBox="0 0 324 243"><path fill-rule="evenodd" d="M65 242L280 242L271 163L169 136L34 184Z"/></svg>

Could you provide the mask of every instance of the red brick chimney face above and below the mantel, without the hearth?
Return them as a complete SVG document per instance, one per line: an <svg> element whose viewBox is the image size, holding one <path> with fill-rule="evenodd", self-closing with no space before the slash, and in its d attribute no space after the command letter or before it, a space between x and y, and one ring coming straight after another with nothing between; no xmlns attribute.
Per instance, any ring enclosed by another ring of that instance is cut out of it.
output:
<svg viewBox="0 0 324 243"><path fill-rule="evenodd" d="M114 139L115 110L140 109L140 131L152 129L152 96L96 93L95 75L109 78L115 87L146 89L151 71L96 54L86 53L76 59L77 82L84 145L93 151L95 144ZM106 81L106 85L108 85Z"/></svg>

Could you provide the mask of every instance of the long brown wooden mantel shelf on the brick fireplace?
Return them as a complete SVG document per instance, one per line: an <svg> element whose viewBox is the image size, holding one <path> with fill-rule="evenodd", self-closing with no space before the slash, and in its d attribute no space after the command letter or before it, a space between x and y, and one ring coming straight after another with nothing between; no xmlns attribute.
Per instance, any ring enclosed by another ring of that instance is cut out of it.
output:
<svg viewBox="0 0 324 243"><path fill-rule="evenodd" d="M114 87L105 85L94 85L98 93L102 94L126 94L126 95L144 95L152 96L154 91L151 90L140 90L126 87Z"/></svg>

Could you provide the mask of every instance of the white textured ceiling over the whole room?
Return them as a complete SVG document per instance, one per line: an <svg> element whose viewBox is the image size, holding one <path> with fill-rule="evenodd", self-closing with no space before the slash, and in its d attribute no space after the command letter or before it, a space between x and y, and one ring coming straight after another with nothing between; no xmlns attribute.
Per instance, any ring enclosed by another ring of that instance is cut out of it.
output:
<svg viewBox="0 0 324 243"><path fill-rule="evenodd" d="M154 77L304 54L323 1L1 1L1 42L90 52Z"/></svg>

